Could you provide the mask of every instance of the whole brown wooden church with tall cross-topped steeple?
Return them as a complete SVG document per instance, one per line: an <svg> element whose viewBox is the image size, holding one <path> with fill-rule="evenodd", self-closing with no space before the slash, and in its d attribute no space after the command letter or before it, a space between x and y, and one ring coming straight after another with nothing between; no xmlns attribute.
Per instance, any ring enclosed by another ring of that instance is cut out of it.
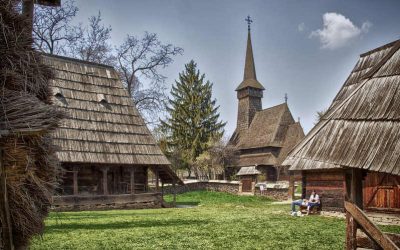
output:
<svg viewBox="0 0 400 250"><path fill-rule="evenodd" d="M288 180L288 167L282 162L304 137L299 122L293 119L286 101L262 108L265 88L257 80L249 22L243 81L236 88L238 114L236 130L230 139L239 152L235 171L239 171L242 192L251 192L256 178L268 181ZM252 170L252 171L250 171ZM261 179L261 178L260 178Z"/></svg>

